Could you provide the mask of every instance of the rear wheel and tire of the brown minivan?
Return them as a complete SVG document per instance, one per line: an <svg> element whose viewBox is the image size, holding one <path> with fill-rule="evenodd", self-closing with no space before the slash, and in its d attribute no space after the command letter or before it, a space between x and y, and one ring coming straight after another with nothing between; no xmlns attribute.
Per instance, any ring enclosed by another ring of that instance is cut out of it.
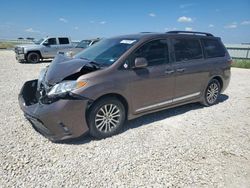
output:
<svg viewBox="0 0 250 188"><path fill-rule="evenodd" d="M220 96L221 85L216 79L212 79L205 90L203 104L205 106L212 106L218 102Z"/></svg>

